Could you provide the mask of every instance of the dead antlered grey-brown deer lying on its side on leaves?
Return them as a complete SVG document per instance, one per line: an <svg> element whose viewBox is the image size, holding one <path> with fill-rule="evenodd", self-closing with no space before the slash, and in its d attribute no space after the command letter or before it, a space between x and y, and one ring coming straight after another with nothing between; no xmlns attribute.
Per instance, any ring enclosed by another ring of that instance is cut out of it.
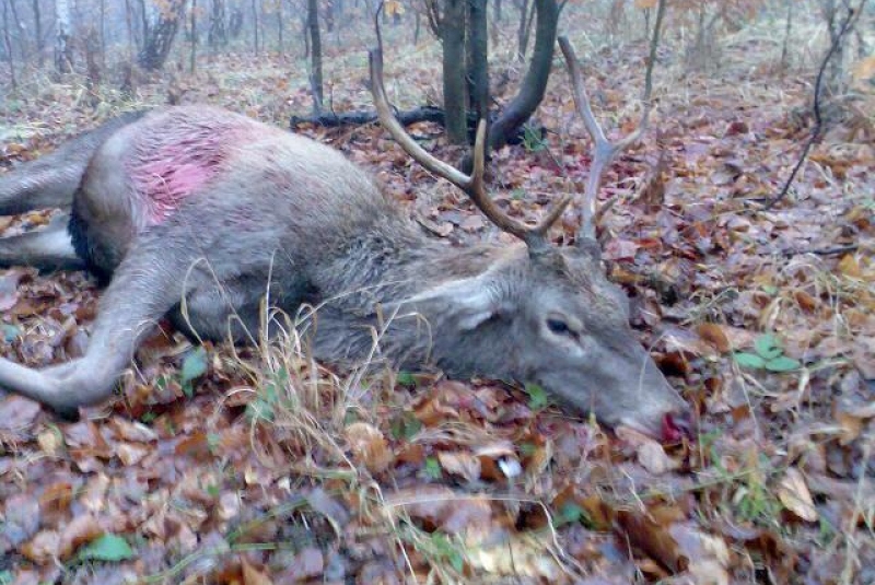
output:
<svg viewBox="0 0 875 585"><path fill-rule="evenodd" d="M377 56L378 57L378 56ZM257 335L262 301L318 306L313 354L338 365L372 352L397 367L541 385L609 425L661 436L688 407L635 339L598 246L556 247L486 192L483 134L465 175L419 147L371 77L383 125L455 184L512 246L430 237L337 151L209 106L132 114L0 179L0 213L59 207L69 223L0 239L0 265L86 267L108 282L85 354L44 370L0 360L0 388L62 416L105 400L138 344L167 316L197 339Z"/></svg>

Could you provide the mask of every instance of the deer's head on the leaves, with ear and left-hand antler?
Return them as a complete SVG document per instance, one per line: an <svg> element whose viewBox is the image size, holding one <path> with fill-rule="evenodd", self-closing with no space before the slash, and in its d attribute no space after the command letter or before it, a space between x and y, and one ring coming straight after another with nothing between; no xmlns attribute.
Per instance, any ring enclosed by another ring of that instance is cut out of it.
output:
<svg viewBox="0 0 875 585"><path fill-rule="evenodd" d="M481 374L539 384L560 401L610 425L666 437L676 437L678 430L688 432L689 409L635 338L627 297L605 277L595 238L581 233L570 247L553 246L548 238L571 196L562 197L537 225L509 217L486 190L485 121L477 130L474 171L464 174L423 150L395 118L378 49L371 51L370 65L380 120L395 141L524 243L483 273L424 293L411 304L428 306L429 314L453 316L465 341L474 341L464 342L463 351L490 353L477 359L486 370ZM450 368L464 361L464 355L454 355Z"/></svg>

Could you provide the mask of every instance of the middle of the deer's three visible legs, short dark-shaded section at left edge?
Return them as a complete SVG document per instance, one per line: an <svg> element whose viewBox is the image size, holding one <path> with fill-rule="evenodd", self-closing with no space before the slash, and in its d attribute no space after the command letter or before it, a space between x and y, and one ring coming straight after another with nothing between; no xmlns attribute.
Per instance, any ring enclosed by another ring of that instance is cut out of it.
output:
<svg viewBox="0 0 875 585"><path fill-rule="evenodd" d="M84 270L67 231L69 215L61 213L49 224L25 234L0 238L0 268L32 266L39 270Z"/></svg>

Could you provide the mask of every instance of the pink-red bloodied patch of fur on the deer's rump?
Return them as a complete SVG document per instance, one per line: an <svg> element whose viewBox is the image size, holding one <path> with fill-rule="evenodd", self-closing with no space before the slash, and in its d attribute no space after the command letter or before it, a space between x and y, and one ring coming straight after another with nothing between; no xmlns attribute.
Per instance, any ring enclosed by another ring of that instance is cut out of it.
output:
<svg viewBox="0 0 875 585"><path fill-rule="evenodd" d="M166 220L221 172L240 128L211 121L171 119L139 137L128 173L148 224Z"/></svg>

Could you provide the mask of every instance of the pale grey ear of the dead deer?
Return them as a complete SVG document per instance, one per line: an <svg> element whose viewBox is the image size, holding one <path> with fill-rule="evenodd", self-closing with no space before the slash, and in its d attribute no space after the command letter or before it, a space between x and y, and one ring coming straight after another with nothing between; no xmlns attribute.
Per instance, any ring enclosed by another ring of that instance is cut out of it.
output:
<svg viewBox="0 0 875 585"><path fill-rule="evenodd" d="M477 329L506 311L498 286L483 277L463 279L424 291L405 302L406 308L429 306L463 331Z"/></svg>

